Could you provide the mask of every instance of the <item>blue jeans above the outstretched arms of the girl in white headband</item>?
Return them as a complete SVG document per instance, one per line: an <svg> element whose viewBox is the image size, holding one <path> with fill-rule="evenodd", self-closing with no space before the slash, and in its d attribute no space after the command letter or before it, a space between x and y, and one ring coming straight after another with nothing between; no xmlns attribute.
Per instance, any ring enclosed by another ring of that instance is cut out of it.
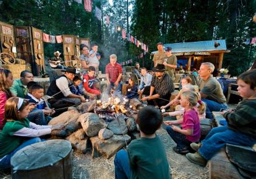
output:
<svg viewBox="0 0 256 179"><path fill-rule="evenodd" d="M29 112L27 119L38 125L47 125L43 110L41 109L34 108L31 112Z"/></svg>

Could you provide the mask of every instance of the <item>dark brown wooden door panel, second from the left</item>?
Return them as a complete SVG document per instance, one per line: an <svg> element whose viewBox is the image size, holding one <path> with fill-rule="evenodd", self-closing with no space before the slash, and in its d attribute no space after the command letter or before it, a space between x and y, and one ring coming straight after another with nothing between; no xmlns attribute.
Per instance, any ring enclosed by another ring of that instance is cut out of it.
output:
<svg viewBox="0 0 256 179"><path fill-rule="evenodd" d="M29 26L15 26L15 40L18 58L24 59L26 63L33 64L32 38Z"/></svg>

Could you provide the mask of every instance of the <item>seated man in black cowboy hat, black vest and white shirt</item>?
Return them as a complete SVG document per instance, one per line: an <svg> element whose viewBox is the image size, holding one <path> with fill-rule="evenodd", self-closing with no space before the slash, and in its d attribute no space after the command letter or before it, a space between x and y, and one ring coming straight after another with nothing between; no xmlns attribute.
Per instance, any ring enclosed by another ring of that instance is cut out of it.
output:
<svg viewBox="0 0 256 179"><path fill-rule="evenodd" d="M74 76L78 74L76 69L67 67L66 70L62 70L62 72L65 73L52 81L47 91L47 95L52 96L52 98L48 100L52 107L59 109L78 104L81 101L85 102L84 96L75 95L69 89L69 87L72 86L71 81Z"/></svg>

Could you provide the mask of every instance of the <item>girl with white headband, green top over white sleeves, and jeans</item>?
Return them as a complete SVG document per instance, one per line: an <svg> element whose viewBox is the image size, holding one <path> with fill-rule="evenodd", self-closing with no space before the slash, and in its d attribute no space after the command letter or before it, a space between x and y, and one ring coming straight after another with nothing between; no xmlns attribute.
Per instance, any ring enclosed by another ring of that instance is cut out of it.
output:
<svg viewBox="0 0 256 179"><path fill-rule="evenodd" d="M27 120L29 101L12 97L6 101L4 128L0 133L0 169L10 168L10 158L23 147L41 141L42 135L63 129L63 124L39 126Z"/></svg>

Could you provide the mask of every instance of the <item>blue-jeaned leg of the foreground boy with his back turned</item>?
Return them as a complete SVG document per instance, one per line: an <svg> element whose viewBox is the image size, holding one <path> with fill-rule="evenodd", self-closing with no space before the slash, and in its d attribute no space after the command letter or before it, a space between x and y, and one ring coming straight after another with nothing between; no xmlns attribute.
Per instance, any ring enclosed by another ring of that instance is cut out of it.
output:
<svg viewBox="0 0 256 179"><path fill-rule="evenodd" d="M120 150L119 152L117 152L114 164L116 179L130 178L130 165L126 150Z"/></svg>

